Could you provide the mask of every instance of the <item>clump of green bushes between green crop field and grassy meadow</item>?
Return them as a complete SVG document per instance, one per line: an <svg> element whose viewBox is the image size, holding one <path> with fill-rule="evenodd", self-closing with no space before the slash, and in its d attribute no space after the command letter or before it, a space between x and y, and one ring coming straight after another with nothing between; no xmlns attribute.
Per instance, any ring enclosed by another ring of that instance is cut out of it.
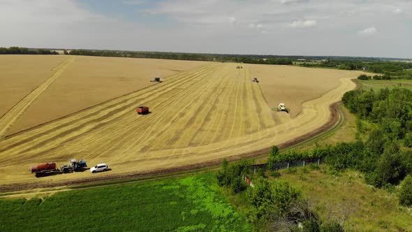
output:
<svg viewBox="0 0 412 232"><path fill-rule="evenodd" d="M277 147L273 147L272 152L276 154ZM331 228L342 231L341 224L321 220L300 190L279 180L280 173L272 173L277 179L270 180L263 169L254 172L255 168L247 165L247 161L228 164L223 160L216 177L220 185L228 190L230 201L247 215L256 231L330 231ZM244 187L233 191L238 180ZM250 187L244 184L246 180L253 181Z"/></svg>

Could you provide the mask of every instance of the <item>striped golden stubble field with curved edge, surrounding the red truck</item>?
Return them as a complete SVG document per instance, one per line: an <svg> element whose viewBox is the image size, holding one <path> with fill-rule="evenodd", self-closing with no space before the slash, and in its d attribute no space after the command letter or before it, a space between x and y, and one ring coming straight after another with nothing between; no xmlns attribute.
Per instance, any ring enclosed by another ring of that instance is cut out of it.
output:
<svg viewBox="0 0 412 232"><path fill-rule="evenodd" d="M77 57L76 62L80 58L83 57ZM90 166L105 162L112 171L93 175L102 177L178 168L287 143L321 129L331 117L330 104L354 89L351 78L359 75L314 69L321 78L312 78L302 68L263 66L263 71L259 71L260 66L244 65L242 69L235 66L203 63L170 75L159 85L6 137L0 141L0 184L91 177L87 171L36 179L27 171L31 164L47 161L57 162L59 166L70 158L85 159ZM287 69L281 81L270 78L278 68L280 73ZM259 83L251 82L254 75L259 75ZM307 83L309 79L311 85ZM284 89L284 94L270 95L270 89L279 90L278 84L297 92ZM310 91L314 94L308 94ZM304 94L301 96L299 92ZM42 94L36 103L41 104L44 98ZM79 101L81 96L73 98ZM293 111L299 108L299 113L293 117L286 113L273 114L266 99L284 101ZM149 106L152 113L137 115L135 108L142 105Z"/></svg>

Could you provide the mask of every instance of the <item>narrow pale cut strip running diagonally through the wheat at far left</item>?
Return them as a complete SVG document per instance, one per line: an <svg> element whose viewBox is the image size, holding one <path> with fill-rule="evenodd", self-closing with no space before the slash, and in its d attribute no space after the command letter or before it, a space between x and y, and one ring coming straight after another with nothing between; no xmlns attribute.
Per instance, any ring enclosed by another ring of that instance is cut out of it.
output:
<svg viewBox="0 0 412 232"><path fill-rule="evenodd" d="M24 113L31 103L33 103L40 94L42 94L47 87L49 87L54 80L59 78L61 73L63 73L68 66L70 66L73 61L75 61L75 57L69 57L65 61L61 62L58 66L53 68L52 70L55 71L53 75L45 80L41 85L39 85L36 89L32 92L27 94L22 100L20 100L13 108L8 110L8 112L0 118L0 140L6 136L8 129L19 119L19 117Z"/></svg>

